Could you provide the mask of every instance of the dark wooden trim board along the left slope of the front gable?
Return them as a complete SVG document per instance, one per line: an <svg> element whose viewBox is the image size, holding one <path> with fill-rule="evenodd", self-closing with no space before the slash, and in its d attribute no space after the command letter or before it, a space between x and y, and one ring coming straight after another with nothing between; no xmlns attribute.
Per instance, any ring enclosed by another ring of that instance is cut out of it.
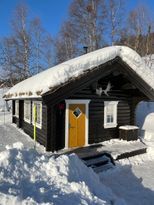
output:
<svg viewBox="0 0 154 205"><path fill-rule="evenodd" d="M61 100L69 98L75 92L78 92L84 87L95 82L96 79L107 76L116 69L112 65L116 60L117 58L112 61L108 61L103 65L95 67L91 71L87 71L83 75L78 76L77 78L74 78L71 81L67 82L62 87L57 88L57 90L45 93L44 95L42 95L44 102L46 104L56 104Z"/></svg>

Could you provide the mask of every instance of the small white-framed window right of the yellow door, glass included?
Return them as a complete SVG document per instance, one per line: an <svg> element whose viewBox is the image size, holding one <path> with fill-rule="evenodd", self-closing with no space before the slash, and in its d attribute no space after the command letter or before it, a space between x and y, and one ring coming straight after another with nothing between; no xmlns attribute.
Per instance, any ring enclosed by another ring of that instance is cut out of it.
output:
<svg viewBox="0 0 154 205"><path fill-rule="evenodd" d="M104 128L117 126L117 105L118 101L104 102Z"/></svg>

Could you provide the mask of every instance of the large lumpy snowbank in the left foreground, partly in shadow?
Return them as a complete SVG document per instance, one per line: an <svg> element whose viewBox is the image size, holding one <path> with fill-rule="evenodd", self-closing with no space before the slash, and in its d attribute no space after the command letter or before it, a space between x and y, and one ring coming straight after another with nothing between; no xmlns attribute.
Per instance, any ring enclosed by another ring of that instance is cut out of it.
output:
<svg viewBox="0 0 154 205"><path fill-rule="evenodd" d="M0 152L1 205L122 205L76 155L58 158L15 143Z"/></svg>

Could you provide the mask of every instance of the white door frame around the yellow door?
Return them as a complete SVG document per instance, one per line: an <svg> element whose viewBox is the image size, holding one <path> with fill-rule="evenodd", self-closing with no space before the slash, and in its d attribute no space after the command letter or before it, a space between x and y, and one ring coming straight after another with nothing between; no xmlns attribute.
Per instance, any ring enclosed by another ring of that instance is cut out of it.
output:
<svg viewBox="0 0 154 205"><path fill-rule="evenodd" d="M69 105L70 104L84 104L85 105L85 145L88 145L88 135L89 135L89 103L90 100L76 100L76 99L68 99L66 102L66 110L65 110L65 149L68 149L68 138L69 138Z"/></svg>

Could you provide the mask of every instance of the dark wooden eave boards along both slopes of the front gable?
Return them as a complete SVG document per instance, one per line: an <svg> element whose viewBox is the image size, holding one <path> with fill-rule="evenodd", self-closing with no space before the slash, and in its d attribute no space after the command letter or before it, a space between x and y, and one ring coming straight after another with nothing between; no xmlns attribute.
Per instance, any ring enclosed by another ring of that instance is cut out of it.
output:
<svg viewBox="0 0 154 205"><path fill-rule="evenodd" d="M45 103L56 104L78 92L82 88L90 85L100 77L103 78L115 70L124 73L128 80L132 82L149 100L154 100L154 89L147 84L128 64L120 57L116 57L104 64L101 64L92 70L88 70L77 78L71 79L67 83L57 87L42 95Z"/></svg>

